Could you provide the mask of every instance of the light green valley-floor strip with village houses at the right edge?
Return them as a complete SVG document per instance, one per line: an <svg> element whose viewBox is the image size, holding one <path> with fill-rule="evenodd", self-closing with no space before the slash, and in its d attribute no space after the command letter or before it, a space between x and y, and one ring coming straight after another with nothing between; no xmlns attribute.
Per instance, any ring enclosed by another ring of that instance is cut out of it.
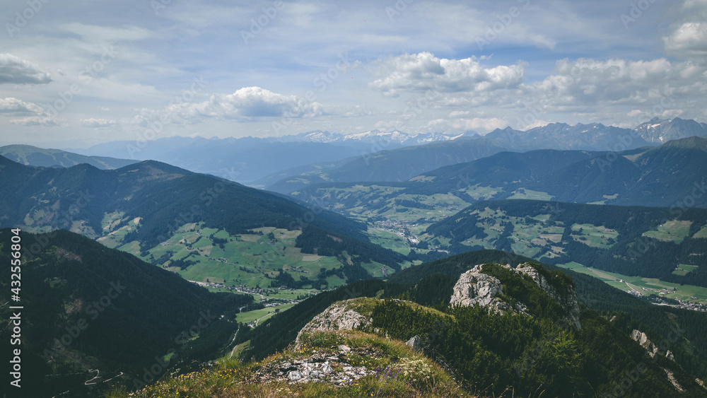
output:
<svg viewBox="0 0 707 398"><path fill-rule="evenodd" d="M673 298L676 300L691 301L707 305L707 288L691 285L679 285L660 281L660 279L642 278L641 276L626 276L614 272L601 271L582 264L570 262L559 264L559 267L571 269L575 272L588 274L601 279L615 288L622 291L637 291L641 295L659 295L660 297ZM673 291L672 289L676 289Z"/></svg>

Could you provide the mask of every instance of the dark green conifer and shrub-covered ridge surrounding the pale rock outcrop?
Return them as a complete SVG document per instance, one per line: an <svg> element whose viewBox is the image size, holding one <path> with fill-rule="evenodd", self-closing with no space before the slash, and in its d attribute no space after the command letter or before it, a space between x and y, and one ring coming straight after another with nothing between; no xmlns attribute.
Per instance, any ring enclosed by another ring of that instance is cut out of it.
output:
<svg viewBox="0 0 707 398"><path fill-rule="evenodd" d="M707 371L701 359L706 349L701 335L701 328L707 326L703 313L659 308L616 289L604 294L609 287L601 281L570 272L573 282L569 283L575 286L580 300L588 300L588 308L581 312L582 329L568 329L557 322L561 309L551 300L544 301L547 296L535 291L534 283L498 266L484 269L503 281L507 300L522 301L534 317L493 315L482 307L449 307L452 287L460 274L490 259L511 264L529 261L515 254L486 250L422 264L399 272L386 283L361 281L305 300L298 305L299 311L296 307L277 315L251 332L239 334L238 341L249 343L250 350L244 353L248 358L265 358L285 349L305 324L332 303L360 297L396 298L428 308L397 300L354 300L360 304L352 302L349 308L370 314L365 315L371 319L370 325L363 327L365 331L370 328L402 341L423 336L426 355L444 363L464 380L465 387L482 396L505 396L511 387L515 394L531 397L537 396L537 388L553 397L609 393L616 387L614 382L625 377L624 371L639 363L647 366L642 371L642 382L622 387L624 396L679 396L661 367L677 369L673 374L695 397L706 393L689 375L704 377ZM542 271L542 267L538 269ZM558 278L554 282L559 283L557 286L567 286L562 271L542 272L550 280ZM645 349L630 338L633 329L645 332L656 344L660 342L660 355L670 349L683 368L676 368L663 356L648 357ZM544 341L547 335L553 337ZM538 347L544 348L537 351ZM524 365L523 358L532 360Z"/></svg>

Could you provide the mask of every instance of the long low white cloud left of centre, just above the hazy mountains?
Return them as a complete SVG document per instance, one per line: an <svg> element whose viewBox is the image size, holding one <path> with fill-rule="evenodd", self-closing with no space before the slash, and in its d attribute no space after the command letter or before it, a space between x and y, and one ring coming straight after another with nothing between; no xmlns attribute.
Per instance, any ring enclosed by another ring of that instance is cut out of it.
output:
<svg viewBox="0 0 707 398"><path fill-rule="evenodd" d="M247 121L263 117L317 117L324 115L320 103L296 95L273 93L260 87L244 87L233 94L211 95L201 103L174 103L161 112L144 110L139 120L159 117L183 122L199 118L236 119Z"/></svg>

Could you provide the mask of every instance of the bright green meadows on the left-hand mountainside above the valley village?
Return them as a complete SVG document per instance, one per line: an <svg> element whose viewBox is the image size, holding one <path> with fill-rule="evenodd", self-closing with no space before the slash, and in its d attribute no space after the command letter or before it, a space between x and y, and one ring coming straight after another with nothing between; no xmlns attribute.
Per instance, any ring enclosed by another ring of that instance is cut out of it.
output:
<svg viewBox="0 0 707 398"><path fill-rule="evenodd" d="M268 288L279 269L287 271L296 280L300 280L300 276L314 280L322 268L341 267L335 257L306 254L295 247L301 231L272 227L229 235L226 230L189 223L181 226L165 242L145 250L138 242L122 242L132 228L139 228L139 218L126 220L121 217L117 213L105 217L105 235L100 242L175 271L189 281ZM373 263L369 267L378 271L376 276L382 274L382 264ZM330 276L327 281L330 288L346 282L337 276Z"/></svg>

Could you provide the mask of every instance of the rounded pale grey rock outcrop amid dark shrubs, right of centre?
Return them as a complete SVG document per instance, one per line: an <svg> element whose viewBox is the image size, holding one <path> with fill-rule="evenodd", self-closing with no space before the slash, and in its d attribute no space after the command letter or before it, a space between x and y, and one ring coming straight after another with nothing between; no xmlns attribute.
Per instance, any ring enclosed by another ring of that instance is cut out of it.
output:
<svg viewBox="0 0 707 398"><path fill-rule="evenodd" d="M454 286L450 305L461 305L462 307L489 308L493 312L517 312L528 315L527 308L522 303L514 306L503 301L499 295L503 295L503 284L493 276L482 274L481 265L469 269L459 277Z"/></svg>

